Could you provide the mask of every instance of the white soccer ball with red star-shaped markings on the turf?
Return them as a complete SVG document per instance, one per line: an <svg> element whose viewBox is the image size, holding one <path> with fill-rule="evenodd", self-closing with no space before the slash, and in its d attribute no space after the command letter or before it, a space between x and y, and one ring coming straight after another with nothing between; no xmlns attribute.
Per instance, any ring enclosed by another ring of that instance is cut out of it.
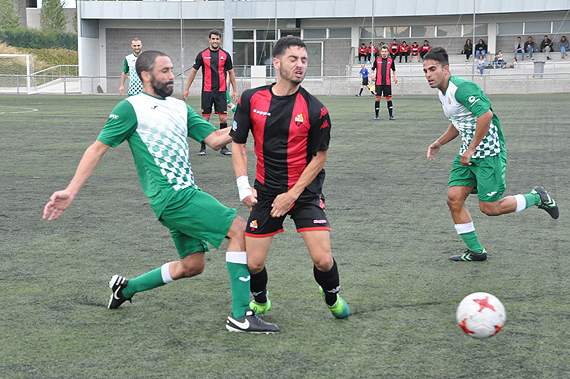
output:
<svg viewBox="0 0 570 379"><path fill-rule="evenodd" d="M505 325L507 314L505 307L495 296L486 292L475 292L461 300L456 318L465 334L481 339L499 333Z"/></svg>

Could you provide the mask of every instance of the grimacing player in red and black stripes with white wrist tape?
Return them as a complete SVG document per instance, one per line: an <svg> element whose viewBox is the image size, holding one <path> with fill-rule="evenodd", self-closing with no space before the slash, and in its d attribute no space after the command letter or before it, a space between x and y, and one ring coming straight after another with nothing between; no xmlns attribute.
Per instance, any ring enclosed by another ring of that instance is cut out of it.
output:
<svg viewBox="0 0 570 379"><path fill-rule="evenodd" d="M329 113L301 87L307 70L305 43L296 37L281 38L273 54L277 83L243 93L230 133L240 200L252 207L246 228L254 296L249 307L258 314L271 307L265 261L273 237L283 232L283 221L290 215L307 244L315 280L329 309L335 317L345 318L350 311L338 295L339 275L321 192L330 139ZM250 131L257 156L254 188L247 178Z"/></svg>

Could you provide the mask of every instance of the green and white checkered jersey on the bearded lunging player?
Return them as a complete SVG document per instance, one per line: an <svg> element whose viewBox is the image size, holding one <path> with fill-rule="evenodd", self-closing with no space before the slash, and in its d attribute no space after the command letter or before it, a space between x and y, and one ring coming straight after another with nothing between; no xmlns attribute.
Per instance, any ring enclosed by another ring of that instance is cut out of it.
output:
<svg viewBox="0 0 570 379"><path fill-rule="evenodd" d="M111 147L128 141L143 191L160 218L176 191L199 190L188 137L202 142L215 130L182 100L141 92L117 104L97 139Z"/></svg>

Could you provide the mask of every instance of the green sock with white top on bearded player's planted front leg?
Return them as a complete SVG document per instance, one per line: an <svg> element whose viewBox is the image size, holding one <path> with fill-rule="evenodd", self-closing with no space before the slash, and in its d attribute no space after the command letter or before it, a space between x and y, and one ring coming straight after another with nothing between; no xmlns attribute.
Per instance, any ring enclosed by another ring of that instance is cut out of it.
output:
<svg viewBox="0 0 570 379"><path fill-rule="evenodd" d="M232 287L232 316L240 318L245 316L245 311L249 308L251 276L245 251L226 252L226 265Z"/></svg>

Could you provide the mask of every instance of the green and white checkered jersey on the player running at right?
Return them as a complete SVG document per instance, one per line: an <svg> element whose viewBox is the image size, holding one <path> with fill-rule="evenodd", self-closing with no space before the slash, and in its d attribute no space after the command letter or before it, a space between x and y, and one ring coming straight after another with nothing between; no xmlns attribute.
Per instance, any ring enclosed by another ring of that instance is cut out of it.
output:
<svg viewBox="0 0 570 379"><path fill-rule="evenodd" d="M443 112L461 135L463 143L459 149L459 154L463 154L475 135L477 117L489 110L493 112L491 102L477 84L456 76L449 78L445 93L439 92L439 100L443 106ZM493 112L489 131L475 149L472 158L494 156L504 149L505 138L501 130L501 123Z"/></svg>

